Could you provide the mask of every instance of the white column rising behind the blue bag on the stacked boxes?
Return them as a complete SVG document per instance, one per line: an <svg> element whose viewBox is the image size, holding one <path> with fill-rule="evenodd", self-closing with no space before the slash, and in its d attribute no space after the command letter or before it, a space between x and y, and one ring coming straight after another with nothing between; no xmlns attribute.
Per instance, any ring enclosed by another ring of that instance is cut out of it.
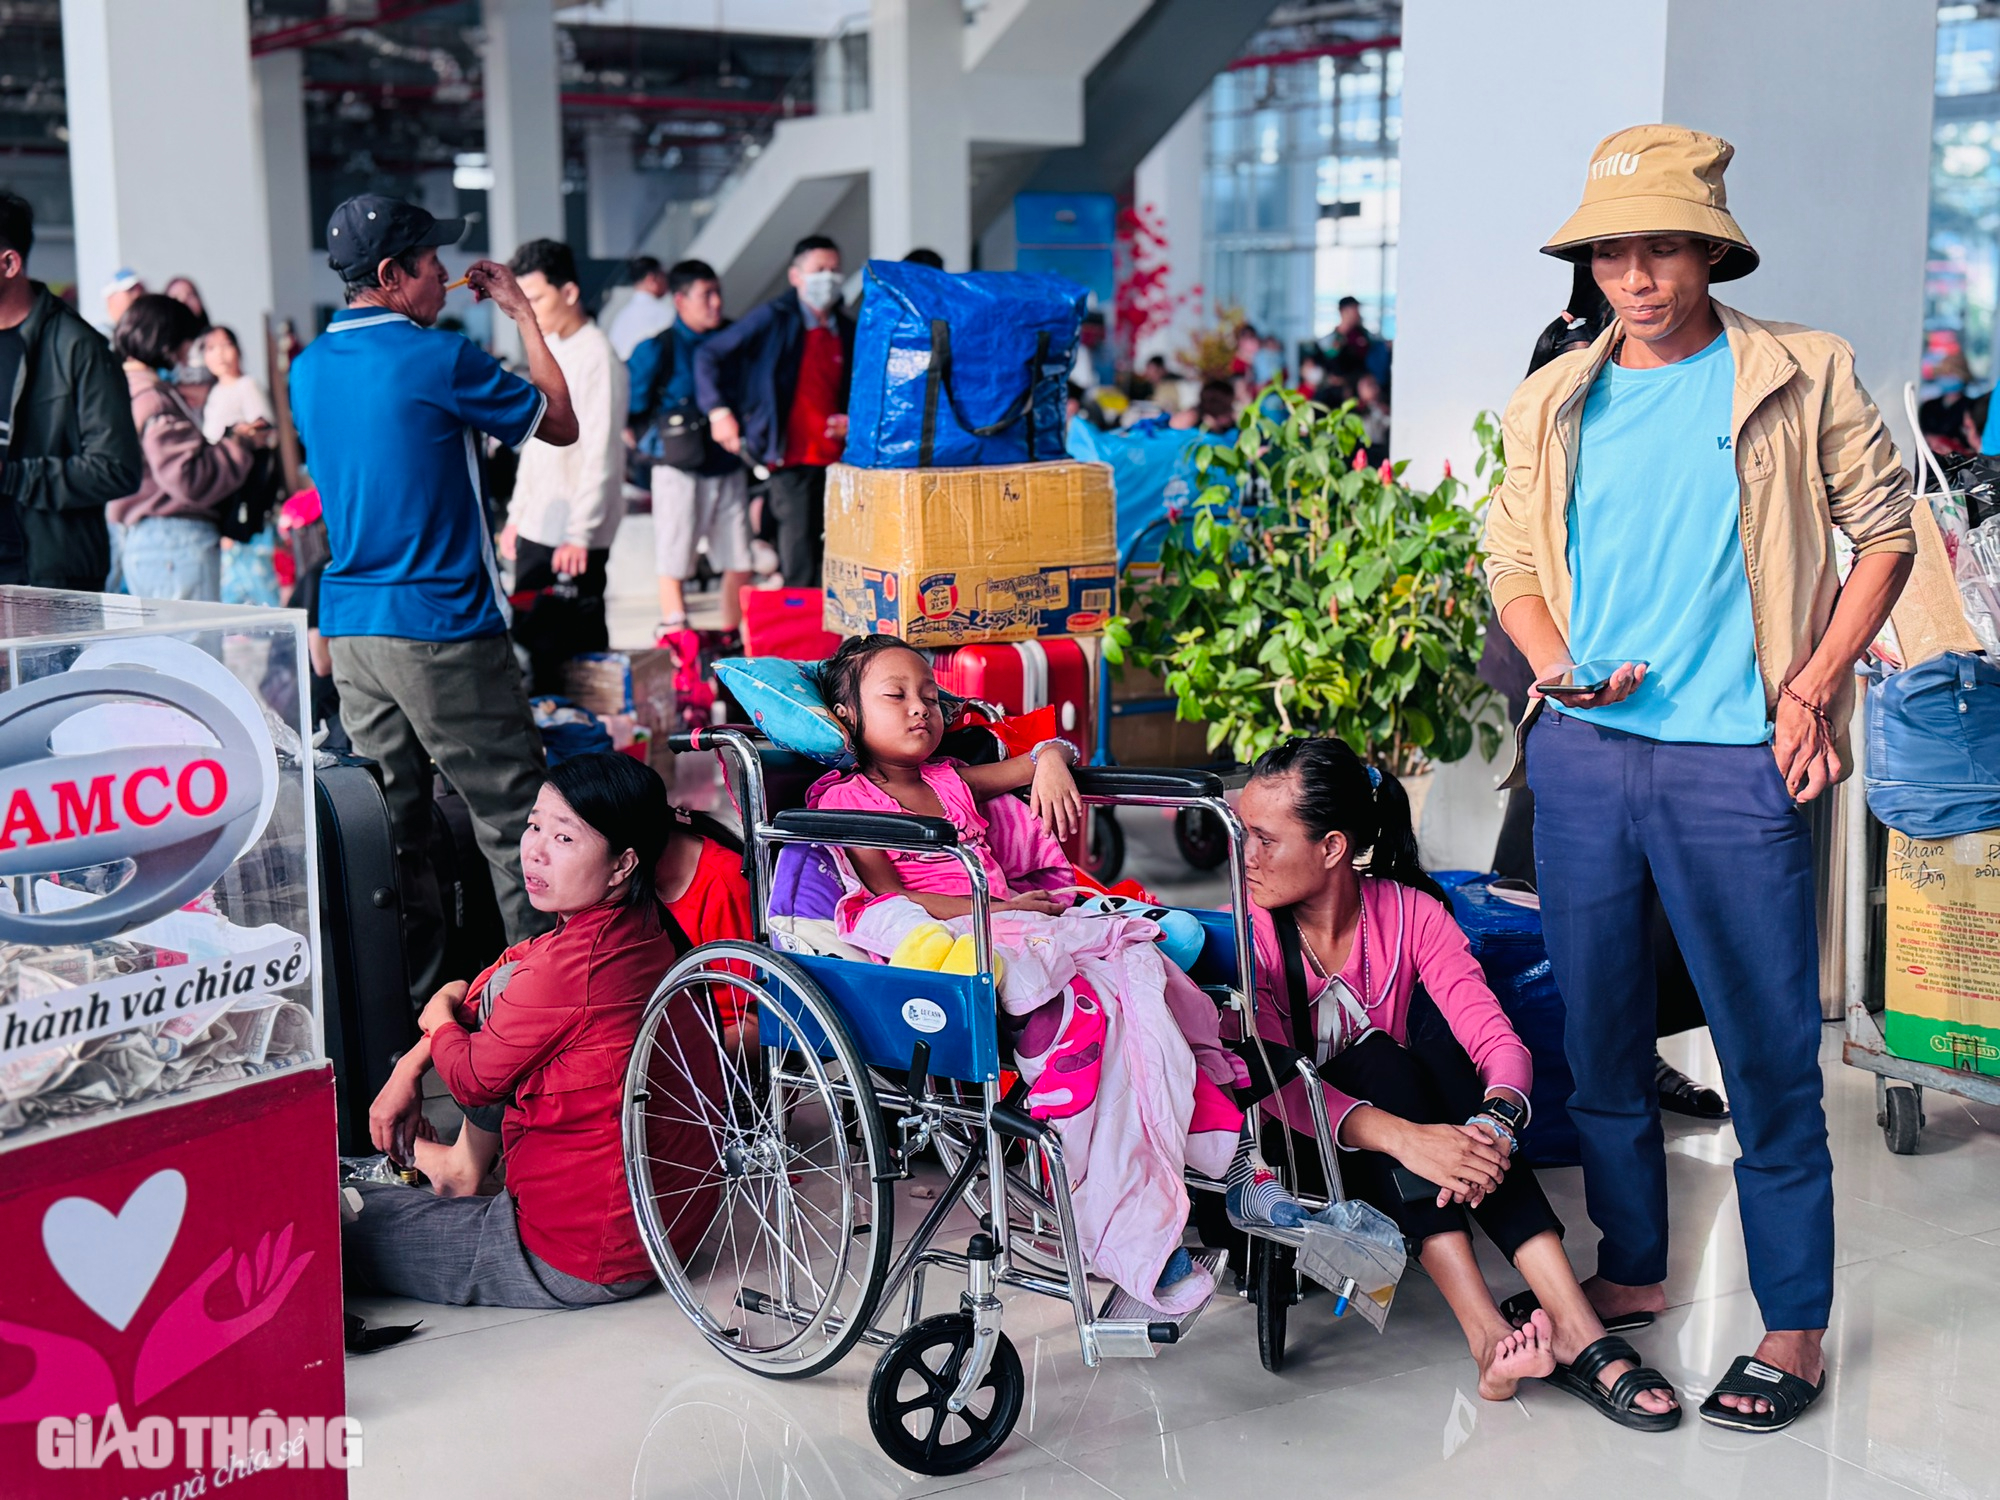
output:
<svg viewBox="0 0 2000 1500"><path fill-rule="evenodd" d="M964 4L874 0L870 16L870 254L896 258L928 244L962 270L972 260Z"/></svg>

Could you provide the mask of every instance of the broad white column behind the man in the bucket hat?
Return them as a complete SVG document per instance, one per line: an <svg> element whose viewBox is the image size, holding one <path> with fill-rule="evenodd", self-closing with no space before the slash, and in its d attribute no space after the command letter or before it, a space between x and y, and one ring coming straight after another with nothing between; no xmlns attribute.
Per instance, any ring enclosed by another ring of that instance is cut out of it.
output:
<svg viewBox="0 0 2000 1500"><path fill-rule="evenodd" d="M1590 150L1666 120L1736 146L1730 212L1762 256L1718 288L1758 318L1854 344L1904 452L1922 350L1936 6L1930 0L1406 0L1396 448L1412 478L1470 472L1570 268L1538 254ZM1550 58L1576 56L1550 88Z"/></svg>

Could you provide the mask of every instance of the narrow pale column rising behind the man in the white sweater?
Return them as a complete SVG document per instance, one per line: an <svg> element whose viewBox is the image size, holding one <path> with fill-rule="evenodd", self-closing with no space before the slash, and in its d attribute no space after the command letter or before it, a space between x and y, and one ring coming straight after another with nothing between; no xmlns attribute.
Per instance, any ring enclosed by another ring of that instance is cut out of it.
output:
<svg viewBox="0 0 2000 1500"><path fill-rule="evenodd" d="M560 240L562 94L550 0L484 0L488 244L506 260L524 240Z"/></svg>

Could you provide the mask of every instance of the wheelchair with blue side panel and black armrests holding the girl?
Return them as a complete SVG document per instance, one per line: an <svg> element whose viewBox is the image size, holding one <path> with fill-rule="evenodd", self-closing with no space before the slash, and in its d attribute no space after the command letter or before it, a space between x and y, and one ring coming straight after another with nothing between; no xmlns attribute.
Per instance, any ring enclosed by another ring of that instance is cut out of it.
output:
<svg viewBox="0 0 2000 1500"><path fill-rule="evenodd" d="M894 1462L920 1474L974 1468L1020 1416L1026 1380L1002 1332L1002 1288L1068 1302L1092 1368L1178 1344L1198 1312L1162 1320L1118 1288L1094 1296L1062 1138L1020 1108L1024 1084L1002 1088L986 874L952 824L806 810L804 790L826 768L746 730L696 730L668 744L722 754L742 806L758 928L756 942L710 942L668 970L626 1070L626 1180L640 1236L702 1338L774 1380L820 1374L856 1344L880 1348L870 1428ZM1244 832L1222 782L1210 772L1078 768L1076 784L1090 806L1196 808L1226 830L1232 902L1228 912L1194 912L1204 950L1192 978L1226 1012L1224 1034L1240 1038L1252 1076L1262 1060L1262 1078L1274 1080L1252 1016ZM956 858L972 886L976 972L782 948L768 906L774 858L788 844ZM1310 1064L1302 1074L1312 1078ZM1320 1174L1338 1198L1326 1108L1318 1088L1306 1094ZM1296 1188L1292 1132L1282 1134L1280 1170ZM664 1138L678 1144L662 1146ZM898 1252L894 1184L926 1148L948 1186ZM1224 1190L1192 1170L1188 1186ZM978 1220L962 1250L942 1244L958 1204ZM1244 1290L1272 1370L1282 1366L1286 1314L1300 1296L1300 1240L1286 1230L1248 1240ZM1220 1280L1226 1252L1202 1250L1196 1260ZM956 1312L926 1318L924 1280L934 1270L964 1276L966 1290Z"/></svg>

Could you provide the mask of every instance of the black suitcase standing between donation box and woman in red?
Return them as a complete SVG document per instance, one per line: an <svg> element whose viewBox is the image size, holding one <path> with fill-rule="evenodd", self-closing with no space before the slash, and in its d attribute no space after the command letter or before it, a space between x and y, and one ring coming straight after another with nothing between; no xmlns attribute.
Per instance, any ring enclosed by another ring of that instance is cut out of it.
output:
<svg viewBox="0 0 2000 1500"><path fill-rule="evenodd" d="M374 1150L368 1106L416 1042L396 840L372 760L322 754L312 784L320 804L320 990L340 1152L366 1156Z"/></svg>

